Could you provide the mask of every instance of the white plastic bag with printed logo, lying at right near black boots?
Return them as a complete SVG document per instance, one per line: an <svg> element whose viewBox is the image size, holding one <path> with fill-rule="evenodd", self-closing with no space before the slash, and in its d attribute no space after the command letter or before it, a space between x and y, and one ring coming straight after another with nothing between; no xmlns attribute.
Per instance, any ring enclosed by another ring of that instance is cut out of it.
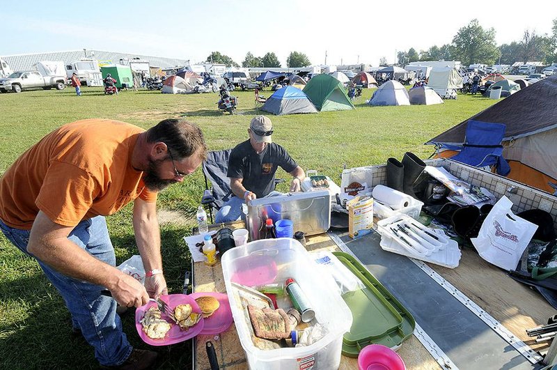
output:
<svg viewBox="0 0 557 370"><path fill-rule="evenodd" d="M515 216L512 201L503 195L485 217L472 244L485 261L505 270L515 270L538 225Z"/></svg>

